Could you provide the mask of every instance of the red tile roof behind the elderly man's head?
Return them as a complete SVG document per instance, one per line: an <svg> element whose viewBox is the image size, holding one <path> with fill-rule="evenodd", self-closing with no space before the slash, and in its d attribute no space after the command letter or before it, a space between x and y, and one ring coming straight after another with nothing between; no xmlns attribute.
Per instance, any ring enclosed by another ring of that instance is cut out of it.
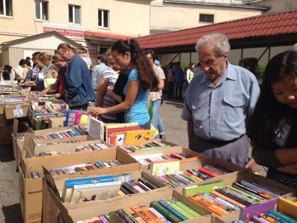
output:
<svg viewBox="0 0 297 223"><path fill-rule="evenodd" d="M224 33L229 40L296 34L297 9L183 29L170 33L137 37L136 40L141 48L158 49L193 45L196 44L200 37L209 33Z"/></svg>

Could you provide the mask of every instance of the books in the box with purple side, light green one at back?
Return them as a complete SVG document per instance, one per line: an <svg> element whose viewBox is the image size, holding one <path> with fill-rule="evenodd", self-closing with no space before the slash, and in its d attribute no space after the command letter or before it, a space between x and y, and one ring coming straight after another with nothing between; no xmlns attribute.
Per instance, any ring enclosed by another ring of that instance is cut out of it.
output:
<svg viewBox="0 0 297 223"><path fill-rule="evenodd" d="M187 196L189 199L209 209L214 216L286 194L286 191L254 180L242 180L225 188L222 181L216 181L183 189L186 195L192 194Z"/></svg>

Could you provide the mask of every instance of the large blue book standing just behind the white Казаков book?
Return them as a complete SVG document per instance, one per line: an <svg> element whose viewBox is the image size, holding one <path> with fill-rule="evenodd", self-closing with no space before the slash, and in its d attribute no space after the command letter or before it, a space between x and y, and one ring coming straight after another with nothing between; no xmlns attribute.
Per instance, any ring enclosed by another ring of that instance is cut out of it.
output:
<svg viewBox="0 0 297 223"><path fill-rule="evenodd" d="M66 180L62 192L62 201L69 202L71 196L71 189L74 185L84 185L84 184L94 184L94 183L105 183L114 182L112 176L102 176L102 177L89 177L83 179Z"/></svg>

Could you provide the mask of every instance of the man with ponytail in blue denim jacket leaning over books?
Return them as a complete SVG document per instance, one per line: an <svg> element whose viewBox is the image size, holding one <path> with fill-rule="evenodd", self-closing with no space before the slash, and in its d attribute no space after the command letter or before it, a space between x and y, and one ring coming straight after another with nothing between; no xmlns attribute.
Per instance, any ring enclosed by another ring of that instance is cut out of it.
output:
<svg viewBox="0 0 297 223"><path fill-rule="evenodd" d="M93 90L88 65L70 45L61 43L58 54L69 61L65 78L65 99L70 109L86 111L90 101L96 98ZM66 47L67 46L67 47Z"/></svg>

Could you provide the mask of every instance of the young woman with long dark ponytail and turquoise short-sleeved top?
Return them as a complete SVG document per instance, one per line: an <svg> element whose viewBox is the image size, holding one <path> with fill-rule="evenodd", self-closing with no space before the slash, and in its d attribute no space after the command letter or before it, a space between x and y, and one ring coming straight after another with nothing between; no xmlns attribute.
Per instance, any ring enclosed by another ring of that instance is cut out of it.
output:
<svg viewBox="0 0 297 223"><path fill-rule="evenodd" d="M113 107L91 109L93 116L125 111L125 122L138 122L143 129L150 129L147 110L149 91L157 90L158 79L149 60L134 39L118 40L111 47L111 55L122 69L131 68L124 88L125 100Z"/></svg>

